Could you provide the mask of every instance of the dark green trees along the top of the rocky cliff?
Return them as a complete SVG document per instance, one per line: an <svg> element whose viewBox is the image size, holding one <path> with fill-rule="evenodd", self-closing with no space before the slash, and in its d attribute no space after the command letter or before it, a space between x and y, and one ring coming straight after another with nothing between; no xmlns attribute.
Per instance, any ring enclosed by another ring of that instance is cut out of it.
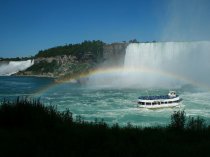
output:
<svg viewBox="0 0 210 157"><path fill-rule="evenodd" d="M85 55L90 55L94 60L97 61L103 57L103 45L104 43L100 40L84 41L81 44L69 44L65 46L57 46L47 50L41 50L35 57L72 55L76 56L78 60L81 60L85 57Z"/></svg>

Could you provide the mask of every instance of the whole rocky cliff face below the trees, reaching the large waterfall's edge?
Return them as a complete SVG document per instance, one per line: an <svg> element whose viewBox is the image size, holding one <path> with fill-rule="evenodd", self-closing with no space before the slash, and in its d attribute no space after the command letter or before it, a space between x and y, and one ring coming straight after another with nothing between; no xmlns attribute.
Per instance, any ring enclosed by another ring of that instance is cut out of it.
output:
<svg viewBox="0 0 210 157"><path fill-rule="evenodd" d="M103 59L94 60L90 52L78 59L76 56L62 55L48 58L36 58L34 65L17 75L35 75L55 78L69 78L88 72L99 66L120 66L124 62L127 43L113 43L103 46Z"/></svg>

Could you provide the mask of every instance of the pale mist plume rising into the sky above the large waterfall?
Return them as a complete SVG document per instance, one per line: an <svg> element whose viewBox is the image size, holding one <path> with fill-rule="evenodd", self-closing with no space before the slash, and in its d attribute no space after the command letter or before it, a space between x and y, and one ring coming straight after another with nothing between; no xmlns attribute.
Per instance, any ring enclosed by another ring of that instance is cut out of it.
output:
<svg viewBox="0 0 210 157"><path fill-rule="evenodd" d="M210 1L171 0L163 28L164 41L210 40Z"/></svg>

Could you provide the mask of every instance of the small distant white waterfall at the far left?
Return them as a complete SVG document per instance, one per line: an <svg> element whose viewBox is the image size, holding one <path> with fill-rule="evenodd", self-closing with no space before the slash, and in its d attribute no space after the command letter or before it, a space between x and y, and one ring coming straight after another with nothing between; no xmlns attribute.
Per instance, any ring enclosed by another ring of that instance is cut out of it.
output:
<svg viewBox="0 0 210 157"><path fill-rule="evenodd" d="M34 60L9 61L0 63L0 76L9 76L25 70L34 64Z"/></svg>

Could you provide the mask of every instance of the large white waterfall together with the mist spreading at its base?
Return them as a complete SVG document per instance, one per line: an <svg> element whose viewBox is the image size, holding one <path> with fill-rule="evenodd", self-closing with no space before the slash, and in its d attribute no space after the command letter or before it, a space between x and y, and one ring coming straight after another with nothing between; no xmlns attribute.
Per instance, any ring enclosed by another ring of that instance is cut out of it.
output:
<svg viewBox="0 0 210 157"><path fill-rule="evenodd" d="M210 89L210 41L131 43L124 66L106 68L88 76L87 84L165 89L191 84Z"/></svg>

